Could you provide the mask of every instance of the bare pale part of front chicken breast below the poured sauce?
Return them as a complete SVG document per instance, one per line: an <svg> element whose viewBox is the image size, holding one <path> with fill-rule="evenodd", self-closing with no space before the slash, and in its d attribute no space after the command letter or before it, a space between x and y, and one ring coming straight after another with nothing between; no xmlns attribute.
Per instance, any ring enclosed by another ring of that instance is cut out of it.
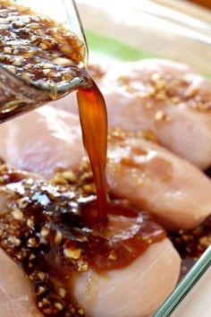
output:
<svg viewBox="0 0 211 317"><path fill-rule="evenodd" d="M179 267L180 258L165 239L127 268L77 275L74 295L92 317L148 317L173 290Z"/></svg>

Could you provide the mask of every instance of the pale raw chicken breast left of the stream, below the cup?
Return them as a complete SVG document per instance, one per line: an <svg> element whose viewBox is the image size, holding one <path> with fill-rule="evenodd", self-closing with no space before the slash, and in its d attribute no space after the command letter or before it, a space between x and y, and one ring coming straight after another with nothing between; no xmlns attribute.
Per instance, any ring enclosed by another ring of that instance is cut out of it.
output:
<svg viewBox="0 0 211 317"><path fill-rule="evenodd" d="M0 131L0 157L22 170L49 176L76 166L84 155L78 117L52 107L1 124Z"/></svg>

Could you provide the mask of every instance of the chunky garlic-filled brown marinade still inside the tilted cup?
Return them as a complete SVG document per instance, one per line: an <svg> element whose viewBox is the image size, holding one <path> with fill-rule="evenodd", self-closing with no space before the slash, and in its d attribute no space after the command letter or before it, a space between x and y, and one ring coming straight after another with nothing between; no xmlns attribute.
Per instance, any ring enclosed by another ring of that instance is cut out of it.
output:
<svg viewBox="0 0 211 317"><path fill-rule="evenodd" d="M1 0L0 17L0 63L22 80L55 85L82 66L84 44L46 15Z"/></svg>

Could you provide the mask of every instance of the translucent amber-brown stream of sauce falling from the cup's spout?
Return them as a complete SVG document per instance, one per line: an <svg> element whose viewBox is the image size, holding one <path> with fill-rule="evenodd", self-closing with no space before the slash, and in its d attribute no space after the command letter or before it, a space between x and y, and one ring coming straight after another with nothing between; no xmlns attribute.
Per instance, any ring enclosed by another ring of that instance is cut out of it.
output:
<svg viewBox="0 0 211 317"><path fill-rule="evenodd" d="M83 142L88 151L90 164L97 188L97 218L105 225L106 216L106 184L105 164L107 150L107 114L105 100L91 79L91 87L77 92L80 110L80 124Z"/></svg>

